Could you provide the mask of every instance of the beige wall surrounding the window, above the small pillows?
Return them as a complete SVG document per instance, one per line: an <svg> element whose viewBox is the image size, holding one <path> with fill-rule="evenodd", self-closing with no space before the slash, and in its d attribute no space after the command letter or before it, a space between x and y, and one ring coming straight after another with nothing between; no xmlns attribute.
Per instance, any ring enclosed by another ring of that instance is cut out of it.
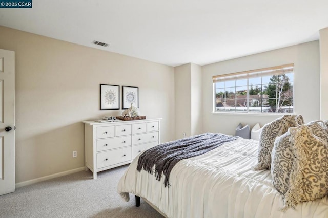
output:
<svg viewBox="0 0 328 218"><path fill-rule="evenodd" d="M212 76L294 63L294 106L306 122L320 117L319 41L202 66L203 132L235 134L239 122L264 125L277 118L268 115L213 114ZM280 116L280 115L279 115Z"/></svg>

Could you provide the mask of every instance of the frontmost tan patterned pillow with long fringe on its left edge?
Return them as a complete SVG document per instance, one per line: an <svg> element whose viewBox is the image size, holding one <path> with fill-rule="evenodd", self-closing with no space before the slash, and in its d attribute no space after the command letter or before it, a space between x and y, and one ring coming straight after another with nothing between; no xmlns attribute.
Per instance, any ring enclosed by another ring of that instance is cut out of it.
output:
<svg viewBox="0 0 328 218"><path fill-rule="evenodd" d="M328 134L320 125L312 127L300 125L289 129L294 162L285 193L285 209L328 194L328 142L325 140Z"/></svg>

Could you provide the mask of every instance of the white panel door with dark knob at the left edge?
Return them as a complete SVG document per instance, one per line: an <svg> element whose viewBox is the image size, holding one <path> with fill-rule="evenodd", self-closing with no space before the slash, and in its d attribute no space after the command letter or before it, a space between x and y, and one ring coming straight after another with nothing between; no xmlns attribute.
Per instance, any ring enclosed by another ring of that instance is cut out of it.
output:
<svg viewBox="0 0 328 218"><path fill-rule="evenodd" d="M0 49L0 195L15 191L15 53Z"/></svg>

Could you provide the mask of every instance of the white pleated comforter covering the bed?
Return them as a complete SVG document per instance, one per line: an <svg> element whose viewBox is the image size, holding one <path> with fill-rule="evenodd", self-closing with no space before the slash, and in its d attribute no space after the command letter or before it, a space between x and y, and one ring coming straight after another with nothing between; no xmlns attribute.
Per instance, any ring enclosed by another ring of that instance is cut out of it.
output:
<svg viewBox="0 0 328 218"><path fill-rule="evenodd" d="M327 196L282 212L283 200L270 170L251 169L257 163L257 148L257 141L240 138L182 160L171 171L170 187L146 171L138 172L136 158L120 179L118 192L126 201L129 193L145 198L175 218L328 217Z"/></svg>

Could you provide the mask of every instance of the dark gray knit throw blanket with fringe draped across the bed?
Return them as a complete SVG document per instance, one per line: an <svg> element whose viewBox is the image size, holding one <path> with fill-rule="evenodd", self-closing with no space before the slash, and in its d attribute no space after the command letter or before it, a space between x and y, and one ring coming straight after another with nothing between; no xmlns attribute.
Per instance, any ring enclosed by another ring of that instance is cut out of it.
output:
<svg viewBox="0 0 328 218"><path fill-rule="evenodd" d="M172 168L182 159L187 159L202 155L224 142L236 140L236 136L225 134L204 133L191 136L172 142L163 143L146 150L139 156L137 170L141 169L155 173L155 177L160 181L162 173L165 176L164 185L169 185L169 176ZM154 167L155 165L155 167Z"/></svg>

